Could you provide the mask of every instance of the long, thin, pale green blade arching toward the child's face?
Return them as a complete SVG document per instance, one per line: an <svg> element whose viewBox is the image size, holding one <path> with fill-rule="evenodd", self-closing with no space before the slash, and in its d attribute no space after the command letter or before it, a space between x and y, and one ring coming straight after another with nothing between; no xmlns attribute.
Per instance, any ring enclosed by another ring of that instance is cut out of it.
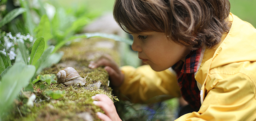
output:
<svg viewBox="0 0 256 121"><path fill-rule="evenodd" d="M83 34L74 35L74 36L72 36L72 37L70 37L70 38L68 38L66 40L63 40L60 43L56 44L55 49L53 50L52 53L54 53L57 50L59 50L59 48L61 48L67 42L72 42L73 40L76 40L77 38L92 38L92 37L101 37L101 38L113 39L115 41L125 42L128 45L132 45L132 40L126 39L126 38L121 38L118 35L107 34L107 33L83 33Z"/></svg>

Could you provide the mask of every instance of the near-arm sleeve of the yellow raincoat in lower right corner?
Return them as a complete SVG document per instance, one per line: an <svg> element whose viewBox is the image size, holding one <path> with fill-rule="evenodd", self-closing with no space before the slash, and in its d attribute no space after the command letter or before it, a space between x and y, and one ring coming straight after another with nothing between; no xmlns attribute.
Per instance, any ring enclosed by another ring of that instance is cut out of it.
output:
<svg viewBox="0 0 256 121"><path fill-rule="evenodd" d="M175 121L255 121L255 80L244 73L214 73L206 81L206 97L198 112ZM254 113L254 114L252 114Z"/></svg>

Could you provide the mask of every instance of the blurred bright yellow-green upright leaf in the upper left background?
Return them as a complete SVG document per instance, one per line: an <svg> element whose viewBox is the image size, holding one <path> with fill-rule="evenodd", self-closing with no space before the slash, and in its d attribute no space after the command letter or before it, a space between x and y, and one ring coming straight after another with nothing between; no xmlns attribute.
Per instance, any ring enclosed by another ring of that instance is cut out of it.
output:
<svg viewBox="0 0 256 121"><path fill-rule="evenodd" d="M48 47L47 42L52 38L51 24L47 15L41 17L38 27L35 29L36 38L43 37L45 41L45 49Z"/></svg>

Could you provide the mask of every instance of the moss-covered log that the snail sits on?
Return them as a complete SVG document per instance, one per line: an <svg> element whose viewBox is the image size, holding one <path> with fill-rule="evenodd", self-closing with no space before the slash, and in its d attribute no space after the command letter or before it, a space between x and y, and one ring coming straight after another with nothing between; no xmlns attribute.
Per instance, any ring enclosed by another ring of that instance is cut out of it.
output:
<svg viewBox="0 0 256 121"><path fill-rule="evenodd" d="M28 108L21 101L16 101L15 110L8 115L8 121L100 121L95 115L102 112L102 109L93 104L91 96L95 94L106 94L113 101L118 100L112 94L109 87L108 73L102 68L89 69L89 62L99 58L102 54L109 54L116 62L119 62L118 42L106 38L90 38L79 42L73 42L69 46L64 46L59 51L64 52L61 61L46 68L41 75L56 75L65 67L73 67L79 75L86 77L85 86L65 86L62 83L53 83L47 90L65 91L62 98L54 100L42 95L38 81L34 86L36 100L32 108ZM55 78L55 80L57 80ZM95 83L100 81L100 88L95 87Z"/></svg>

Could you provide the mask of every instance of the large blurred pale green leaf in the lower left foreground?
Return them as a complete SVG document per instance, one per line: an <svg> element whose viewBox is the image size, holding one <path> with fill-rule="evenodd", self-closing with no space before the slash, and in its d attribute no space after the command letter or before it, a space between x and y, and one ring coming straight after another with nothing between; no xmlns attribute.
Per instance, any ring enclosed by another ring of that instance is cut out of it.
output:
<svg viewBox="0 0 256 121"><path fill-rule="evenodd" d="M0 83L0 116L6 113L22 88L28 85L35 73L35 66L15 63L2 77Z"/></svg>

